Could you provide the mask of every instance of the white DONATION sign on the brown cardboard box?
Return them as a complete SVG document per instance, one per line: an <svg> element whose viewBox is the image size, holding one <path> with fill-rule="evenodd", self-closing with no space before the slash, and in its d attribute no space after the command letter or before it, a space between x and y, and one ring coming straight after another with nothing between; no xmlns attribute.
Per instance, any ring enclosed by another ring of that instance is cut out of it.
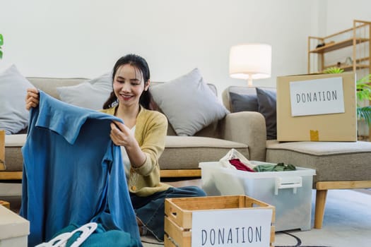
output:
<svg viewBox="0 0 371 247"><path fill-rule="evenodd" d="M291 116L343 113L343 78L290 82Z"/></svg>

